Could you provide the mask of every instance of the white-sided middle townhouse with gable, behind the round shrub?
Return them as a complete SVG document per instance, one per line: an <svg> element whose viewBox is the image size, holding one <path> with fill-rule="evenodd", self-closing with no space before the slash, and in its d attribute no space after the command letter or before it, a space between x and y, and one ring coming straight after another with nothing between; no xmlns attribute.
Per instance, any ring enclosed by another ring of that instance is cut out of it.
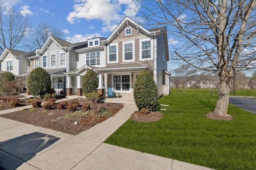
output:
<svg viewBox="0 0 256 170"><path fill-rule="evenodd" d="M41 49L36 50L36 55L26 58L30 61L29 72L36 67L44 68L52 80L51 93L72 95L69 90L71 79L63 73L77 68L74 50L85 46L87 42L72 44L49 36Z"/></svg>

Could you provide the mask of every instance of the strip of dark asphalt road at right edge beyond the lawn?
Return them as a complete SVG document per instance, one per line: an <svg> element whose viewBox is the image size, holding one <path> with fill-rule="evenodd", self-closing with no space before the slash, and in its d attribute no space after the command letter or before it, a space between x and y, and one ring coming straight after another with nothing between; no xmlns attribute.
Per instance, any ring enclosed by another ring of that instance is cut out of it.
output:
<svg viewBox="0 0 256 170"><path fill-rule="evenodd" d="M229 103L256 114L256 98L229 96Z"/></svg>

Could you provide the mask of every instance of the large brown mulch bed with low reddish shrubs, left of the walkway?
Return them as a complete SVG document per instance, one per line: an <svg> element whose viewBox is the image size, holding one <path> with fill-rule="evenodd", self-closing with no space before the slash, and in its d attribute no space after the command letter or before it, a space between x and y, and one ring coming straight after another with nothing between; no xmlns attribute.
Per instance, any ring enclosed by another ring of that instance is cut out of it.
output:
<svg viewBox="0 0 256 170"><path fill-rule="evenodd" d="M85 102L88 102L84 99L78 98L74 99L79 102L80 108L82 109L82 105ZM71 102L69 100L68 102ZM100 123L108 117L113 116L116 114L120 109L123 108L121 104L112 104L112 103L100 103L97 104L97 107L101 109L107 109L112 114L108 115L94 115L88 114L87 117L80 118L80 117L73 117L70 119L64 118L65 114L70 113L70 111L66 109L57 109L57 105L55 104L54 107L50 110L45 110L43 107L36 107L35 111L27 110L20 110L13 113L7 113L4 115L0 115L1 117L12 119L24 123L28 123L30 125L36 125L39 127L44 127L47 129L52 129L55 131L60 131L63 133L68 133L71 135L77 135L78 133L93 127L97 123ZM78 125L75 125L74 122L79 122Z"/></svg>

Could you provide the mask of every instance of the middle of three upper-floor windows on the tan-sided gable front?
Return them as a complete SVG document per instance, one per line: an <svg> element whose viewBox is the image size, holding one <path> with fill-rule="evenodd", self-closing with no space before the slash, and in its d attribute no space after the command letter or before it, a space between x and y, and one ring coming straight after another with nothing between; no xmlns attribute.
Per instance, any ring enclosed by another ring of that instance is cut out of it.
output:
<svg viewBox="0 0 256 170"><path fill-rule="evenodd" d="M123 42L123 62L134 60L134 41Z"/></svg>

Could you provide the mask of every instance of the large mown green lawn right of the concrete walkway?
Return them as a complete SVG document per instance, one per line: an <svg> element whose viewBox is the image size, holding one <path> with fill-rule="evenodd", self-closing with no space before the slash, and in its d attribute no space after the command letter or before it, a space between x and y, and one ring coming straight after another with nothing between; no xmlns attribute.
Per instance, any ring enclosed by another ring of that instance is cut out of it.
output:
<svg viewBox="0 0 256 170"><path fill-rule="evenodd" d="M219 170L256 169L256 115L230 104L232 121L208 119L217 98L206 89L171 89L159 101L170 105L161 106L162 119L129 119L105 143Z"/></svg>

